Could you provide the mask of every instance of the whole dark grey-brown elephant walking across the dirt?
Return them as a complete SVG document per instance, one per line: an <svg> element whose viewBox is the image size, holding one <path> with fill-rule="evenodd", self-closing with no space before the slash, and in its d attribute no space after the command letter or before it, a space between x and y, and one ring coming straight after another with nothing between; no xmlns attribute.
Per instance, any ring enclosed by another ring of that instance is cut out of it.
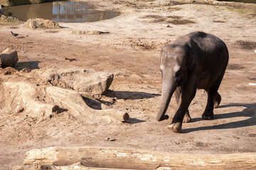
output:
<svg viewBox="0 0 256 170"><path fill-rule="evenodd" d="M169 125L174 132L181 132L182 123L191 121L188 106L196 95L196 89L208 94L203 119L213 118L213 108L221 101L218 88L228 64L228 48L215 35L193 32L177 38L172 45L161 50L162 92L156 120L168 119L165 115L171 96L178 104L176 114Z"/></svg>

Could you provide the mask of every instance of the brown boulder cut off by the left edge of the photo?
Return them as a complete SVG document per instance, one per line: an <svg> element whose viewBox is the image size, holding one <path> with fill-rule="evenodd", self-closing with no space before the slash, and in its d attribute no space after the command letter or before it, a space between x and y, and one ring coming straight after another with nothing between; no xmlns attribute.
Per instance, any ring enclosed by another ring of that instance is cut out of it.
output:
<svg viewBox="0 0 256 170"><path fill-rule="evenodd" d="M0 67L14 67L18 62L18 53L16 50L7 48L0 54Z"/></svg>

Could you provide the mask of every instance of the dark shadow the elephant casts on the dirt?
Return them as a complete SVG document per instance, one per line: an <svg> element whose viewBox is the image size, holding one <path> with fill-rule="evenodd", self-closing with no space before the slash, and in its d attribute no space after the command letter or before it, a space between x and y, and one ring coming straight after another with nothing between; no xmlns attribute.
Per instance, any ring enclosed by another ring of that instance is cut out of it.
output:
<svg viewBox="0 0 256 170"><path fill-rule="evenodd" d="M228 108L228 107L235 107L235 106L244 107L245 109L242 111L233 112L233 113L223 113L223 114L214 115L213 120L224 119L224 118L235 118L235 117L248 117L248 118L245 120L240 120L240 121L231 122L231 123L224 123L221 125L183 129L182 132L188 133L188 132L200 131L200 130L233 129L233 128L243 128L243 127L256 125L256 103L230 103L227 105L218 106L218 108ZM198 121L198 120L199 118L196 118L196 119L193 119L192 121Z"/></svg>

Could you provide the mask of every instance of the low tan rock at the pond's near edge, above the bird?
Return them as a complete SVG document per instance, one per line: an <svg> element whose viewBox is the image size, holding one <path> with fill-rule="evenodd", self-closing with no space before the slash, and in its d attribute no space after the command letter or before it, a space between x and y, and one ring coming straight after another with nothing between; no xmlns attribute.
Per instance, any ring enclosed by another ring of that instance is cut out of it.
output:
<svg viewBox="0 0 256 170"><path fill-rule="evenodd" d="M24 23L24 27L31 28L31 29L37 29L37 28L43 28L43 29L51 29L51 28L60 28L57 21L53 20L45 20L42 18L30 18L26 23Z"/></svg>

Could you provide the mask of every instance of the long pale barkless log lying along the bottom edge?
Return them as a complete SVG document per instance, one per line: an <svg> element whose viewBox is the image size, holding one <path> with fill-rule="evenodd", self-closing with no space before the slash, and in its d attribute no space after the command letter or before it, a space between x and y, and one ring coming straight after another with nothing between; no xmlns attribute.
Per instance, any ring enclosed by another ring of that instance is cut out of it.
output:
<svg viewBox="0 0 256 170"><path fill-rule="evenodd" d="M112 169L255 169L256 153L176 154L110 147L48 147L26 153L23 164Z"/></svg>

